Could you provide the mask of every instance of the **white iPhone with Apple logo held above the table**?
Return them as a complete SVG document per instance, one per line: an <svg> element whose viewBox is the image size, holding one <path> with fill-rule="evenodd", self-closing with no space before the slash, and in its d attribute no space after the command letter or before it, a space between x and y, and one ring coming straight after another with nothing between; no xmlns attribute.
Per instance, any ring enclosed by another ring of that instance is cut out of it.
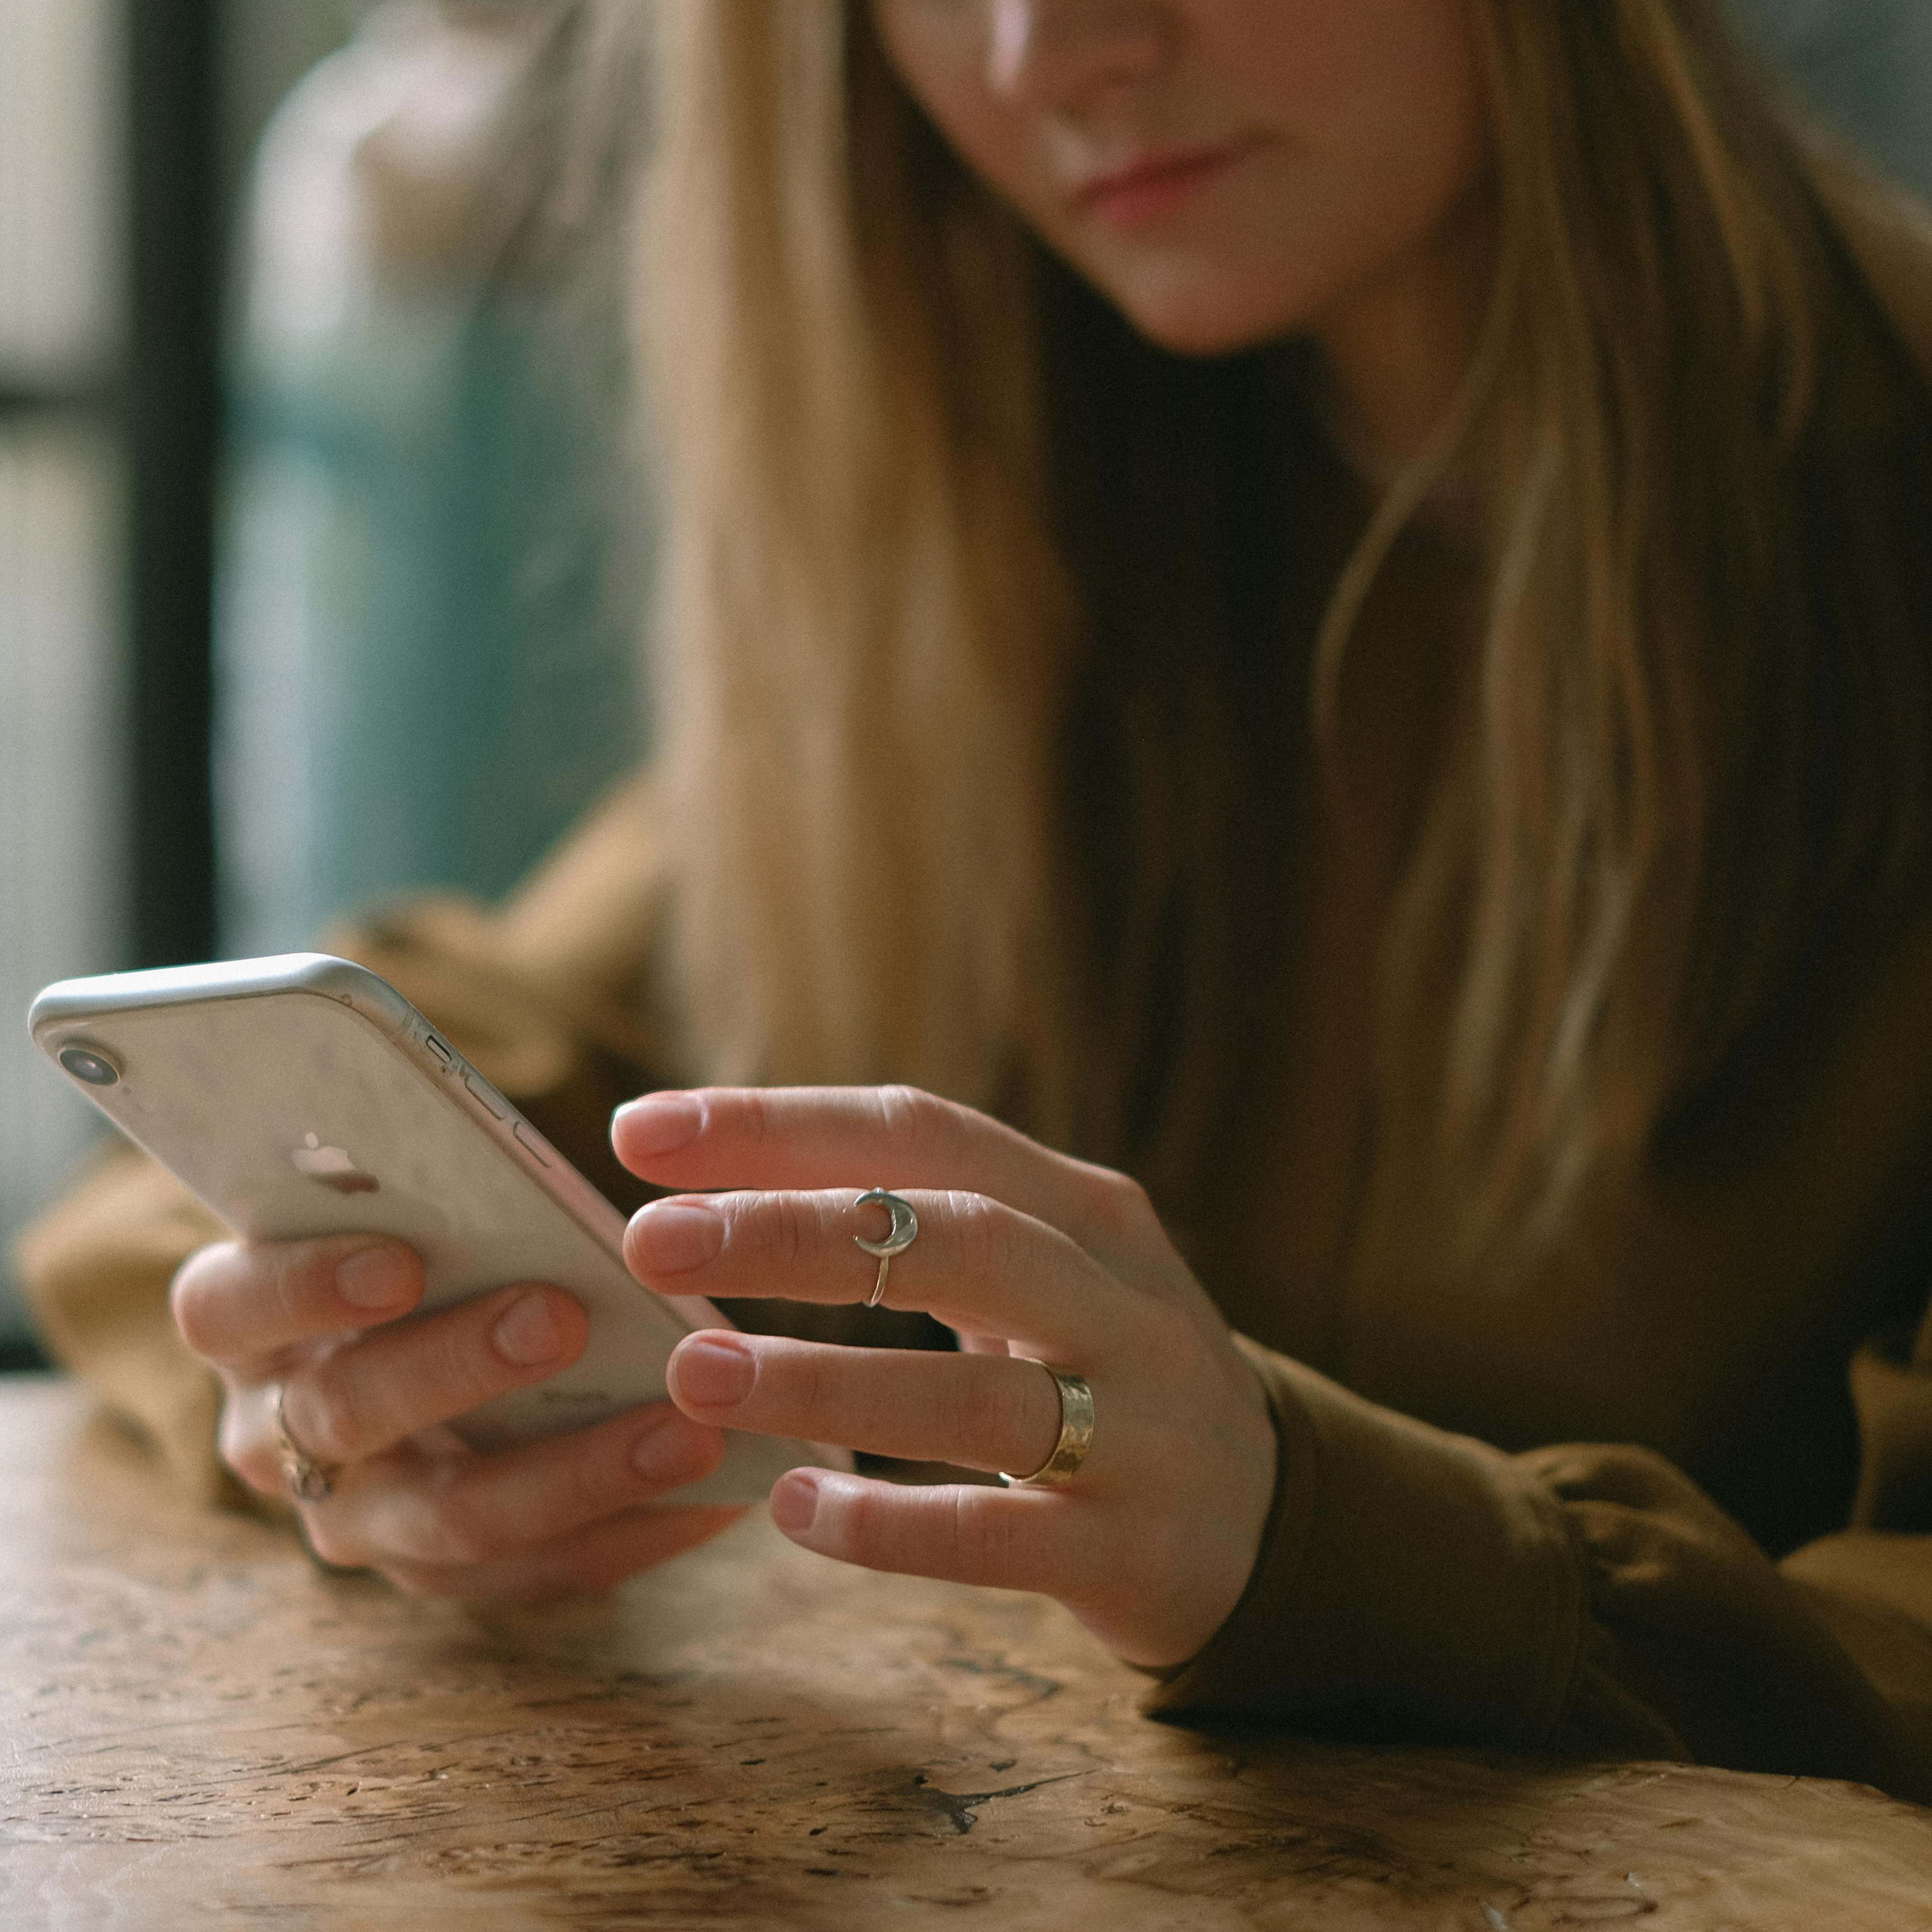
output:
<svg viewBox="0 0 1932 1932"><path fill-rule="evenodd" d="M699 1296L624 1265L624 1217L384 980L325 952L62 980L33 1003L39 1047L129 1140L238 1235L373 1233L410 1242L442 1308L551 1281L589 1312L583 1354L454 1424L497 1449L665 1393ZM667 1505L753 1503L842 1449L730 1434L723 1464Z"/></svg>

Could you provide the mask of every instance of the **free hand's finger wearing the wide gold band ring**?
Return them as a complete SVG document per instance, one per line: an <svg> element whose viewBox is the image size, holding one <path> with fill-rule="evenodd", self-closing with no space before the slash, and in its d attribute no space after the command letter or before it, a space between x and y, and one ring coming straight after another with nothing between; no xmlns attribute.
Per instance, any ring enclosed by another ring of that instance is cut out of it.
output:
<svg viewBox="0 0 1932 1932"><path fill-rule="evenodd" d="M1026 1474L1061 1439L1053 1378L1010 1358L705 1331L678 1343L667 1379L699 1422L908 1463Z"/></svg>

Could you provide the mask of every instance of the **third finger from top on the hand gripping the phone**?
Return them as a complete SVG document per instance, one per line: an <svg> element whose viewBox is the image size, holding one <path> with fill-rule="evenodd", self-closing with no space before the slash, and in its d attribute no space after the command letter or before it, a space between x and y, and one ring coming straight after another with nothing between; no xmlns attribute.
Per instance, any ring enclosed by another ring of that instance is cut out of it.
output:
<svg viewBox="0 0 1932 1932"><path fill-rule="evenodd" d="M309 1511L309 1528L328 1561L475 1567L674 1499L723 1455L721 1430L653 1403L516 1449L361 1464Z"/></svg>

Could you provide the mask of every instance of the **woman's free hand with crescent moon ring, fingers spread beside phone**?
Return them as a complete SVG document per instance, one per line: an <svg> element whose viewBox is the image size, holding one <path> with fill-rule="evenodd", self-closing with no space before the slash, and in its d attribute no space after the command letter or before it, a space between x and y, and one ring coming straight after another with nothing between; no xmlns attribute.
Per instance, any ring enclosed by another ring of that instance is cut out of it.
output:
<svg viewBox="0 0 1932 1932"><path fill-rule="evenodd" d="M626 1258L665 1294L864 1302L879 1184L918 1211L885 1306L951 1323L960 1354L705 1331L670 1358L697 1422L964 1468L1039 1468L1059 1389L1094 1391L1086 1463L1053 1488L912 1488L800 1468L771 1492L792 1542L867 1569L1037 1590L1130 1663L1194 1656L1254 1569L1275 1482L1260 1379L1146 1194L1121 1175L906 1088L653 1094L612 1144L659 1186ZM752 1192L755 1190L755 1192Z"/></svg>

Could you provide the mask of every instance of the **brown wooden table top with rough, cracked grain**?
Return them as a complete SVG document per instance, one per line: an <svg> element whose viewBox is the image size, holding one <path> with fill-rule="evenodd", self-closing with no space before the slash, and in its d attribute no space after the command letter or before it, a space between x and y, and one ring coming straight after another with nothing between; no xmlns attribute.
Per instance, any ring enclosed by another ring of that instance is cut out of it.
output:
<svg viewBox="0 0 1932 1932"><path fill-rule="evenodd" d="M1036 1598L761 1519L477 1615L0 1383L0 1926L1932 1928L1932 1814L1665 1764L1200 1737Z"/></svg>

